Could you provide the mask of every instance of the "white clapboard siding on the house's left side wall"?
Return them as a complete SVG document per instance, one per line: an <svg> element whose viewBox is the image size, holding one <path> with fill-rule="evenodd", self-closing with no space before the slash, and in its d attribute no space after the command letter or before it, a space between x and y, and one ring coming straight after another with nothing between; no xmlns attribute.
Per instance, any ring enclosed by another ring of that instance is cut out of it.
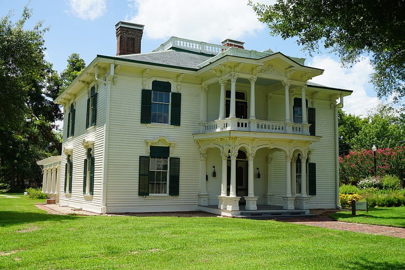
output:
<svg viewBox="0 0 405 270"><path fill-rule="evenodd" d="M65 163L66 156L62 150L60 204L72 207L80 207L85 210L101 212L101 181L103 168L103 147L104 147L104 123L105 123L105 86L100 84L97 90L97 122L94 127L86 129L87 112L87 90L83 88L76 96L76 116L74 136L66 139L63 136L63 148L72 148L72 193L64 193L65 185ZM67 117L65 117L64 130L67 130ZM95 173L93 196L83 195L83 172L86 149L83 147L83 140L94 141Z"/></svg>

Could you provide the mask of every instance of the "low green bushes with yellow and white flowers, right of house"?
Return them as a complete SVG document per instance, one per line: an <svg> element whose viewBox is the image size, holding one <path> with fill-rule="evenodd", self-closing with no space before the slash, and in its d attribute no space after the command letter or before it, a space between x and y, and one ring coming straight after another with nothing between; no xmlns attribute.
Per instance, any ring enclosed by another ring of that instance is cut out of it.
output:
<svg viewBox="0 0 405 270"><path fill-rule="evenodd" d="M340 205L350 207L352 200L367 201L369 207L405 206L405 190L397 176L385 175L382 178L367 177L353 185L341 185L339 188Z"/></svg>

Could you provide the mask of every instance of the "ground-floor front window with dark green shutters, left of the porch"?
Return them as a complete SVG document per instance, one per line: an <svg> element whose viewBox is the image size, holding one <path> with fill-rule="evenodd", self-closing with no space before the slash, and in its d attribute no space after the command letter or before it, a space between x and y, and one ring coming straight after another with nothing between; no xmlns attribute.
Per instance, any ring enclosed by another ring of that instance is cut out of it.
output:
<svg viewBox="0 0 405 270"><path fill-rule="evenodd" d="M139 157L139 195L179 195L180 158L169 157L170 148L151 146Z"/></svg>

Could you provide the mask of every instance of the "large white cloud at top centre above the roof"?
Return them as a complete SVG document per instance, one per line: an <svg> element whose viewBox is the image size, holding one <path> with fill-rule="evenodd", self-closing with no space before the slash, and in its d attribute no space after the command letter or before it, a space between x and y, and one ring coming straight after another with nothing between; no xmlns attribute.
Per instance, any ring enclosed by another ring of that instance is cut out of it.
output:
<svg viewBox="0 0 405 270"><path fill-rule="evenodd" d="M145 25L147 38L178 36L218 42L252 35L266 26L248 1L130 0L137 15L130 21ZM268 3L274 1L265 1ZM244 40L241 40L244 41Z"/></svg>

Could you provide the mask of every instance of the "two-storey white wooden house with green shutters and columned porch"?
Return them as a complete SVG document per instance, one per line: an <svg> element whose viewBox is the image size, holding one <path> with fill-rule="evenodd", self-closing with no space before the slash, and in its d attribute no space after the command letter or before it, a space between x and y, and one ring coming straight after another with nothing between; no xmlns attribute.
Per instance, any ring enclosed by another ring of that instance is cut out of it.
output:
<svg viewBox="0 0 405 270"><path fill-rule="evenodd" d="M116 24L55 100L64 107L59 199L98 213L339 206L337 110L351 91L308 81L305 59L171 37L140 53ZM339 101L339 103L337 102Z"/></svg>

